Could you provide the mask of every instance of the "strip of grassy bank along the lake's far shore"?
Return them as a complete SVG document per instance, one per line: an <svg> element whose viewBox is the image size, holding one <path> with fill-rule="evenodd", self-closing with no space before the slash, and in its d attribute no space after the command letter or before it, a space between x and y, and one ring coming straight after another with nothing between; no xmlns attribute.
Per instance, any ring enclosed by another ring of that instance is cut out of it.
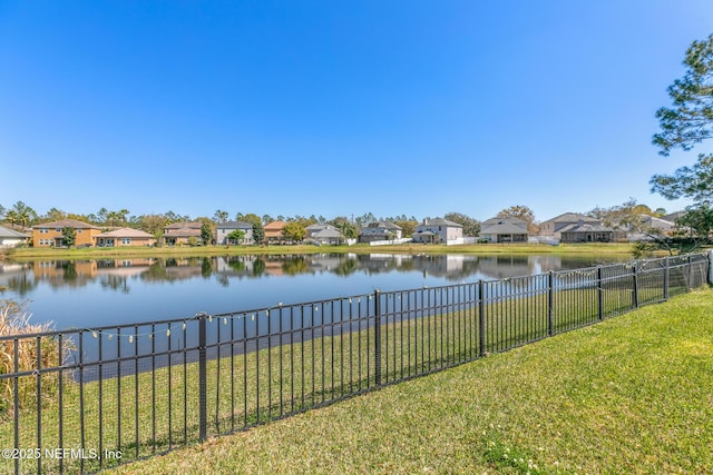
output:
<svg viewBox="0 0 713 475"><path fill-rule="evenodd" d="M12 260L32 259L94 259L113 257L172 257L172 256L240 256L240 255L285 255L285 254L603 254L631 255L634 245L631 243L616 244L560 244L549 246L544 244L476 244L461 246L403 244L392 246L199 246L199 247L115 247L115 248L84 248L84 249L48 249L48 248L17 248L8 253Z"/></svg>

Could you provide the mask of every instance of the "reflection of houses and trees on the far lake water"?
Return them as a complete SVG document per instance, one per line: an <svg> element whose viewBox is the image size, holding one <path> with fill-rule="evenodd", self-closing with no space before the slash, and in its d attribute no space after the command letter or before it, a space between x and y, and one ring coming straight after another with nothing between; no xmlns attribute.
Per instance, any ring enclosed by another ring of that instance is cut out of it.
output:
<svg viewBox="0 0 713 475"><path fill-rule="evenodd" d="M39 283L51 287L82 287L98 283L102 288L128 294L133 283L174 283L215 278L219 286L232 279L295 277L333 274L350 277L356 274L418 273L423 279L438 277L448 281L502 279L545 274L550 270L576 269L615 260L597 256L528 256L528 255L271 255L155 257L94 260L37 260L0 264L0 288L18 296L30 294Z"/></svg>

